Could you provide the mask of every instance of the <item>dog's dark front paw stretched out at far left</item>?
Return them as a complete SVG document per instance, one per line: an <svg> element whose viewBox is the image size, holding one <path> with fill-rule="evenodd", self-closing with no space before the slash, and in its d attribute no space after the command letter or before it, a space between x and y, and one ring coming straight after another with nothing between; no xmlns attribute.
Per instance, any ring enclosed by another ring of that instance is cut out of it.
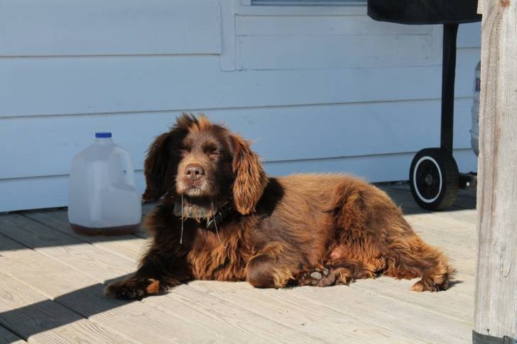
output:
<svg viewBox="0 0 517 344"><path fill-rule="evenodd" d="M159 290L156 279L130 277L109 284L104 288L104 295L124 300L141 300L145 296L158 294Z"/></svg>

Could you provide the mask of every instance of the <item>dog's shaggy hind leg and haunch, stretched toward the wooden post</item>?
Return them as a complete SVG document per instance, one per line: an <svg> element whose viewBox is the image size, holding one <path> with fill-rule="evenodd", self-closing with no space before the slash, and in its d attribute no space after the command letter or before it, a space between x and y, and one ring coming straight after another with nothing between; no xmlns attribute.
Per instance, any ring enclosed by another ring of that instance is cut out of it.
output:
<svg viewBox="0 0 517 344"><path fill-rule="evenodd" d="M454 268L445 255L416 235L393 201L379 189L351 190L344 188L338 198L341 231L330 258L352 257L372 267L366 270L398 279L422 277L411 288L417 292L447 289Z"/></svg>

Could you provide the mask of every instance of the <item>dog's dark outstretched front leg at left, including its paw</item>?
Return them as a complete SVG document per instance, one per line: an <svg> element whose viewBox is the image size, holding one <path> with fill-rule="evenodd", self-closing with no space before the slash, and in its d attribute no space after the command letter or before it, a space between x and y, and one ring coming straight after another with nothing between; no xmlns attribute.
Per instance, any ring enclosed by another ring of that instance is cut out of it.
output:
<svg viewBox="0 0 517 344"><path fill-rule="evenodd" d="M119 299L142 299L160 294L190 279L181 260L161 257L150 250L142 258L140 267L126 279L109 284L104 295Z"/></svg>

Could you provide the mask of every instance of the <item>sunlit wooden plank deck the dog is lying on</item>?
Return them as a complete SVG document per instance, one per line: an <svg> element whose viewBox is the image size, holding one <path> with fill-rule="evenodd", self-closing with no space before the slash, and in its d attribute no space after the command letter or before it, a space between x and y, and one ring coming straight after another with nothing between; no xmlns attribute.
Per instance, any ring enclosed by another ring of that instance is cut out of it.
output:
<svg viewBox="0 0 517 344"><path fill-rule="evenodd" d="M0 216L0 343L471 343L474 192L429 213L406 184L381 187L450 255L458 274L447 292L381 277L282 290L196 281L143 301L105 299L104 284L134 271L144 235L83 237L64 209L9 213Z"/></svg>

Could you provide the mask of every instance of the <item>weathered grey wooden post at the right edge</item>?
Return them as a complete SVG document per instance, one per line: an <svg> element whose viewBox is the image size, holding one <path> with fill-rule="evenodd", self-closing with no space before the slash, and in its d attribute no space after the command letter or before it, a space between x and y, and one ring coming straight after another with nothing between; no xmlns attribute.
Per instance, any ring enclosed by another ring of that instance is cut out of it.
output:
<svg viewBox="0 0 517 344"><path fill-rule="evenodd" d="M474 343L517 338L517 0L479 1L478 256Z"/></svg>

